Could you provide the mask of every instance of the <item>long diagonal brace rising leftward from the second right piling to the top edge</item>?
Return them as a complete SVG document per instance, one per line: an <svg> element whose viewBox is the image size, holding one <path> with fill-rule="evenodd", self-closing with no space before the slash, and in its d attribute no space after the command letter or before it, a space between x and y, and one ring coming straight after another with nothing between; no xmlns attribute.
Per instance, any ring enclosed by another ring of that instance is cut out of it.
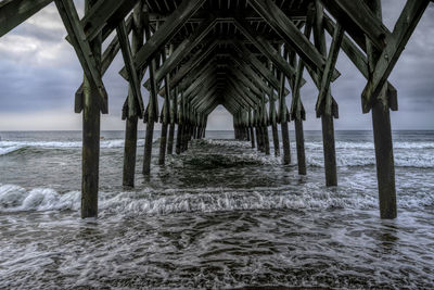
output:
<svg viewBox="0 0 434 290"><path fill-rule="evenodd" d="M252 0L250 4L297 52L307 65L322 73L326 66L326 59L273 1ZM340 76L340 73L333 71L333 76L335 79Z"/></svg>

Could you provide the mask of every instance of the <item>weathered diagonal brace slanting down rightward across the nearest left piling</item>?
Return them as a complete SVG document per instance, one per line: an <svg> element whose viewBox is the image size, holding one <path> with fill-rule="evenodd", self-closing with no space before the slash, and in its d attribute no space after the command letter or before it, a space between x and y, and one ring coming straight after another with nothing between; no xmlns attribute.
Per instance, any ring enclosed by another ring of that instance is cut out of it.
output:
<svg viewBox="0 0 434 290"><path fill-rule="evenodd" d="M102 81L101 70L98 70L97 61L91 50L89 41L86 40L85 31L79 23L77 10L73 0L55 0L59 13L65 25L66 31L71 36L81 67L91 85L98 88L99 106L103 114L108 113L107 92ZM93 97L95 98L95 97Z"/></svg>

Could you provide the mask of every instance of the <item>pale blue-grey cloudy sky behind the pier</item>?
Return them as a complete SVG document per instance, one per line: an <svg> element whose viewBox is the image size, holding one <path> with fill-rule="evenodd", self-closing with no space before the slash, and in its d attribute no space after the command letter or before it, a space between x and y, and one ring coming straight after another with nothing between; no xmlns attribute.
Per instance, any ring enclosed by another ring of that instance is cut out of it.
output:
<svg viewBox="0 0 434 290"><path fill-rule="evenodd" d="M84 1L75 2L82 10ZM384 22L391 30L404 4L405 0L383 0ZM74 113L74 93L81 83L82 71L65 36L55 5L50 4L0 38L0 130L81 128L81 116ZM434 129L433 52L434 4L430 4L390 77L398 89L399 111L392 113L394 129ZM122 66L118 55L103 79L110 97L110 114L103 116L102 129L125 126L120 110L128 85L117 74ZM340 105L335 128L371 129L371 115L362 114L360 109L366 79L343 52L337 70L342 76L332 85ZM308 80L302 89L307 111L305 128L320 129L314 110L318 91L307 74L305 78ZM143 97L146 101L145 90ZM231 127L232 118L221 106L209 116L208 129Z"/></svg>

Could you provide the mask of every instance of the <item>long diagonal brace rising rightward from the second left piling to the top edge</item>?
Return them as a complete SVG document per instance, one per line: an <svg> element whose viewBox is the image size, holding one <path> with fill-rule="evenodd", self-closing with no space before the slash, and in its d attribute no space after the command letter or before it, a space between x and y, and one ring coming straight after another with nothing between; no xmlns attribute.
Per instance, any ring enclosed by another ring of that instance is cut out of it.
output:
<svg viewBox="0 0 434 290"><path fill-rule="evenodd" d="M136 67L142 70L158 51L162 51L167 41L204 2L205 0L183 0L152 38L146 39L146 43L135 55Z"/></svg>

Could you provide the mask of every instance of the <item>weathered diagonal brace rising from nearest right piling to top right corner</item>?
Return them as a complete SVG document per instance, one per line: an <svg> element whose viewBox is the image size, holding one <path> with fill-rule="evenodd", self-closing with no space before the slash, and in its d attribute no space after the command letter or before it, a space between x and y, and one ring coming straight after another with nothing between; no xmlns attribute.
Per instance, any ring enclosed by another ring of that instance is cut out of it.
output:
<svg viewBox="0 0 434 290"><path fill-rule="evenodd" d="M368 85L361 94L363 113L368 113L372 108L372 103L378 99L429 3L429 0L407 1L392 35L385 39L386 47L382 50ZM386 103L387 99L384 99Z"/></svg>

